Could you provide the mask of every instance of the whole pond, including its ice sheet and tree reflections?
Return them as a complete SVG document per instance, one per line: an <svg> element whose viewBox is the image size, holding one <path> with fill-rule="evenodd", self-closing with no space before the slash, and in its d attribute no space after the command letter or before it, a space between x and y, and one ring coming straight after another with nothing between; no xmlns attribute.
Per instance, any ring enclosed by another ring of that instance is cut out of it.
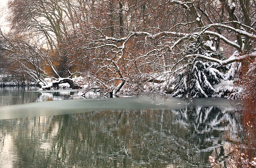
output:
<svg viewBox="0 0 256 168"><path fill-rule="evenodd" d="M43 99L1 88L0 167L209 167L211 155L228 158L225 130L238 121L221 98L69 100L70 91L54 92ZM3 105L6 96L16 100Z"/></svg>

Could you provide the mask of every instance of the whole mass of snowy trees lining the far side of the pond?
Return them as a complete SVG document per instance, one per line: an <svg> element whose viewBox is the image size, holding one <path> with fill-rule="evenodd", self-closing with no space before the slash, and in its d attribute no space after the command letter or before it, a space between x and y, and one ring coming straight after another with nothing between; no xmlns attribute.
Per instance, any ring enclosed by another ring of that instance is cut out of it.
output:
<svg viewBox="0 0 256 168"><path fill-rule="evenodd" d="M74 87L103 95L208 97L256 56L255 0L9 0L8 7L2 56L45 88L52 87L45 77L79 76Z"/></svg>

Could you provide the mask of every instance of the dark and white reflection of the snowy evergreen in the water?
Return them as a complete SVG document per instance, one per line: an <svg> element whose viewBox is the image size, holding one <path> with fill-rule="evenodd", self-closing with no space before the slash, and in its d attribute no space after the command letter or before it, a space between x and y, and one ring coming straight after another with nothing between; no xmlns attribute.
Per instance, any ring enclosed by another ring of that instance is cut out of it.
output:
<svg viewBox="0 0 256 168"><path fill-rule="evenodd" d="M197 147L195 152L204 151L201 157L207 160L209 155L217 159L227 158L222 142L226 139L229 130L241 133L241 125L238 123L239 115L232 110L223 111L217 107L198 107L193 109L177 110L176 119L190 132L188 141ZM224 142L228 144L229 142ZM191 145L193 146L193 145ZM226 151L228 153L228 151ZM224 164L225 165L225 164Z"/></svg>

